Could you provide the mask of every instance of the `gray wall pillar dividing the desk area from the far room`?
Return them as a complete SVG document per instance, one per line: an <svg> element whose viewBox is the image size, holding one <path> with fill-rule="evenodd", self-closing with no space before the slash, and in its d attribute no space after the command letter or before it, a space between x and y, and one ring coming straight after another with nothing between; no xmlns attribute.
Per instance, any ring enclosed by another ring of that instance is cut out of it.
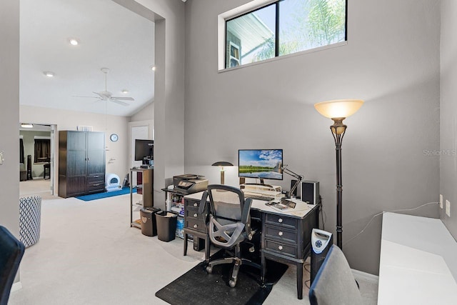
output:
<svg viewBox="0 0 457 305"><path fill-rule="evenodd" d="M165 208L160 191L184 172L184 2L113 0L155 21L154 206Z"/></svg>

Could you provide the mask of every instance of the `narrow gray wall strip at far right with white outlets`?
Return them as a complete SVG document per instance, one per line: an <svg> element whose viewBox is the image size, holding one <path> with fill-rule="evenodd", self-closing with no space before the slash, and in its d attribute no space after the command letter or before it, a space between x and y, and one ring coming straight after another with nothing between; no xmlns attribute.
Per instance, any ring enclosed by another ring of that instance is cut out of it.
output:
<svg viewBox="0 0 457 305"><path fill-rule="evenodd" d="M451 217L440 210L443 223L457 239L457 1L441 1L441 141L440 194L451 202ZM446 208L446 204L443 204Z"/></svg>

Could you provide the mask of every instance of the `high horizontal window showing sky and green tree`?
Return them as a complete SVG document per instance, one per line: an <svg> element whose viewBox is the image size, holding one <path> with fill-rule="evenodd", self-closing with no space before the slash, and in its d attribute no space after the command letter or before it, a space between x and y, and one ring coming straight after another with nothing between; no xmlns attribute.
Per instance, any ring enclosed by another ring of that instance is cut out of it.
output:
<svg viewBox="0 0 457 305"><path fill-rule="evenodd" d="M225 67L346 41L346 0L280 0L226 19Z"/></svg>

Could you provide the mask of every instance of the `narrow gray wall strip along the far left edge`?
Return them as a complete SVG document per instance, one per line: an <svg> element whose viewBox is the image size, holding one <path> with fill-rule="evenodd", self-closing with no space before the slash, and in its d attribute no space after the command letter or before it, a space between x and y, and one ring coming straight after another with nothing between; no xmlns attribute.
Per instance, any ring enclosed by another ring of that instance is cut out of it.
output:
<svg viewBox="0 0 457 305"><path fill-rule="evenodd" d="M0 224L19 237L19 1L0 1Z"/></svg>

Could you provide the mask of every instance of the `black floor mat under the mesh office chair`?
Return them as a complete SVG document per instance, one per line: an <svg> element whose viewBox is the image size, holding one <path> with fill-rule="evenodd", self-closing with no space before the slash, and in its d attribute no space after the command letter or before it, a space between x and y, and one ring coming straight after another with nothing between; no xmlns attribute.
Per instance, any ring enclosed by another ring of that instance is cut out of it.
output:
<svg viewBox="0 0 457 305"><path fill-rule="evenodd" d="M218 251L211 260L223 257L224 251ZM201 262L156 292L159 299L169 304L262 304L288 266L276 261L267 261L266 285L260 286L260 270L251 266L241 266L238 282L230 288L232 264L215 266L212 274L205 271Z"/></svg>

